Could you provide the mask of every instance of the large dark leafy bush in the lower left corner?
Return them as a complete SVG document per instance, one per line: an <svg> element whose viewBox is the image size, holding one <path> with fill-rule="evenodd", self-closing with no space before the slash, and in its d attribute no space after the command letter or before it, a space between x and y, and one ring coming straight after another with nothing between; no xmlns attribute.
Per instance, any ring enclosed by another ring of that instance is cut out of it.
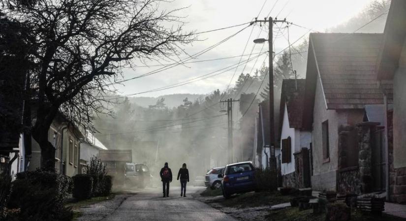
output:
<svg viewBox="0 0 406 221"><path fill-rule="evenodd" d="M12 182L7 207L20 209L20 220L68 221L72 211L64 207L63 201L69 194L71 183L69 177L55 171L38 169L18 173Z"/></svg>

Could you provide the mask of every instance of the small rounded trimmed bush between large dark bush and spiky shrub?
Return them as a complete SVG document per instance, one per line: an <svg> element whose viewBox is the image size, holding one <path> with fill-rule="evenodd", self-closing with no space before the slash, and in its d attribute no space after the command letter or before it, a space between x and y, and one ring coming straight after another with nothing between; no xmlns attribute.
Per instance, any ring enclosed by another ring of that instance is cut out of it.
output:
<svg viewBox="0 0 406 221"><path fill-rule="evenodd" d="M78 200L92 197L93 177L87 174L78 174L73 177L72 195Z"/></svg>

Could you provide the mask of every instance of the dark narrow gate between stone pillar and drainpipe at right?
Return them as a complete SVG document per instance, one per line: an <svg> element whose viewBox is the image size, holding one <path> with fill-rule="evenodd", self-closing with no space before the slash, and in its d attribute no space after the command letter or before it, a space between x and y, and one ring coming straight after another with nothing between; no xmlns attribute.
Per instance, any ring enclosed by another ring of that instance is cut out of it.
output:
<svg viewBox="0 0 406 221"><path fill-rule="evenodd" d="M384 191L386 182L385 172L385 130L372 132L372 175L374 177L375 191Z"/></svg>

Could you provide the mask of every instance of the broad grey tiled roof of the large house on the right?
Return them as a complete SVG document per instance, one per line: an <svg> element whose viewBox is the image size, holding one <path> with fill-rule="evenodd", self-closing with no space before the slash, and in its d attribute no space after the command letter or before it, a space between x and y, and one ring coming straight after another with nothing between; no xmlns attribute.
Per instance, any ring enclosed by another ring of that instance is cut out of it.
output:
<svg viewBox="0 0 406 221"><path fill-rule="evenodd" d="M363 109L367 104L383 103L375 72L382 37L369 33L311 34L328 109ZM393 103L392 86L392 82L383 85L390 91L389 103Z"/></svg>

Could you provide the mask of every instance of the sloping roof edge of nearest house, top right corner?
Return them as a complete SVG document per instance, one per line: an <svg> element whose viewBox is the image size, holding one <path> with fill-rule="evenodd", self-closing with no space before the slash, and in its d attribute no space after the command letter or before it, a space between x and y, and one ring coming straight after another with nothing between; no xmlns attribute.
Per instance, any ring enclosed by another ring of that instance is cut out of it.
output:
<svg viewBox="0 0 406 221"><path fill-rule="evenodd" d="M378 79L393 79L406 38L406 1L392 0L377 61Z"/></svg>

